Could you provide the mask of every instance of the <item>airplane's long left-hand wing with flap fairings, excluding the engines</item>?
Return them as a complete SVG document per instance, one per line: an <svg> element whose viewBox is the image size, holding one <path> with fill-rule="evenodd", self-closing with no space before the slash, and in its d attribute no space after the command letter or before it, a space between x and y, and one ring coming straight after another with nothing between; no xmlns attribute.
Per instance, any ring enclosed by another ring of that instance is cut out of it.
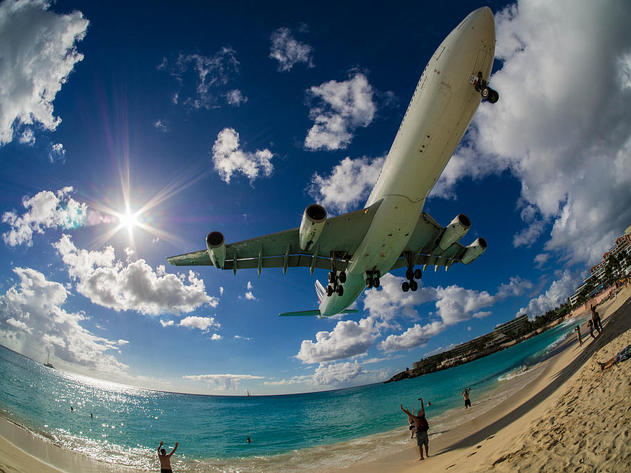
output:
<svg viewBox="0 0 631 473"><path fill-rule="evenodd" d="M344 271L364 235L368 231L381 201L368 208L345 213L327 219L322 235L313 247L302 250L299 229L272 233L250 240L226 244L225 263L222 269L259 269L309 267L331 269L331 258L336 258L336 269ZM193 253L166 258L175 266L212 265L208 252L203 249Z"/></svg>

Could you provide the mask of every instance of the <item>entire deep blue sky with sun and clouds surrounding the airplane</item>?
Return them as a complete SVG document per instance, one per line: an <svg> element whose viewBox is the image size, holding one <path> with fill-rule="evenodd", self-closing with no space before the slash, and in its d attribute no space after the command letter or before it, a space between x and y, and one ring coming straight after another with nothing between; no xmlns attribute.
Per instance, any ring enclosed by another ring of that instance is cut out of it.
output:
<svg viewBox="0 0 631 473"><path fill-rule="evenodd" d="M299 2L300 3L300 2ZM243 395L387 380L573 294L631 224L631 3L0 3L0 344L123 384ZM495 15L483 103L424 211L470 265L404 269L356 314L326 271L171 267L361 208L425 64Z"/></svg>

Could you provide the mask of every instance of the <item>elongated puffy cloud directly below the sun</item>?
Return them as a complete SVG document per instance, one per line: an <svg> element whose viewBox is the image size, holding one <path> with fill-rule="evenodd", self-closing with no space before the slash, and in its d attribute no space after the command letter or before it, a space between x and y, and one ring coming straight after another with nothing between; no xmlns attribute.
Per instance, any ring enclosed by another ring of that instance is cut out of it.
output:
<svg viewBox="0 0 631 473"><path fill-rule="evenodd" d="M219 300L206 294L204 281L193 271L184 276L158 276L145 260L116 260L114 248L87 251L75 247L69 235L53 244L62 257L71 279L76 280L80 294L92 303L141 314L191 312L204 304L216 307Z"/></svg>

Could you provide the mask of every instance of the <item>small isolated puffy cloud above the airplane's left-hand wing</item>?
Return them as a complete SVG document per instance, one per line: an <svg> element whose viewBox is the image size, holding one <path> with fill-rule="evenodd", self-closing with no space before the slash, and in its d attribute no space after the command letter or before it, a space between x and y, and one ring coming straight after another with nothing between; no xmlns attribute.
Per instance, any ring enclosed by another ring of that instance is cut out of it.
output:
<svg viewBox="0 0 631 473"><path fill-rule="evenodd" d="M230 184L230 177L241 172L251 181L260 174L270 176L274 169L270 150L245 152L239 148L239 133L234 128L224 128L213 145L213 163L221 180Z"/></svg>

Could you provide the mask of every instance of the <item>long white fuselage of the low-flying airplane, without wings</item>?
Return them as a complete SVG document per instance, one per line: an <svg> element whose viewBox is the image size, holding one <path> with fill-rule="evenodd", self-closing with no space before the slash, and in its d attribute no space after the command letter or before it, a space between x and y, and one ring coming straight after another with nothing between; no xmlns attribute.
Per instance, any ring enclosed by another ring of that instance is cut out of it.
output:
<svg viewBox="0 0 631 473"><path fill-rule="evenodd" d="M386 274L406 249L427 195L447 166L482 100L469 82L489 79L495 52L490 8L478 8L444 39L425 67L366 206L381 200L346 270L342 296L323 298L321 316L337 314L365 288L366 271Z"/></svg>

